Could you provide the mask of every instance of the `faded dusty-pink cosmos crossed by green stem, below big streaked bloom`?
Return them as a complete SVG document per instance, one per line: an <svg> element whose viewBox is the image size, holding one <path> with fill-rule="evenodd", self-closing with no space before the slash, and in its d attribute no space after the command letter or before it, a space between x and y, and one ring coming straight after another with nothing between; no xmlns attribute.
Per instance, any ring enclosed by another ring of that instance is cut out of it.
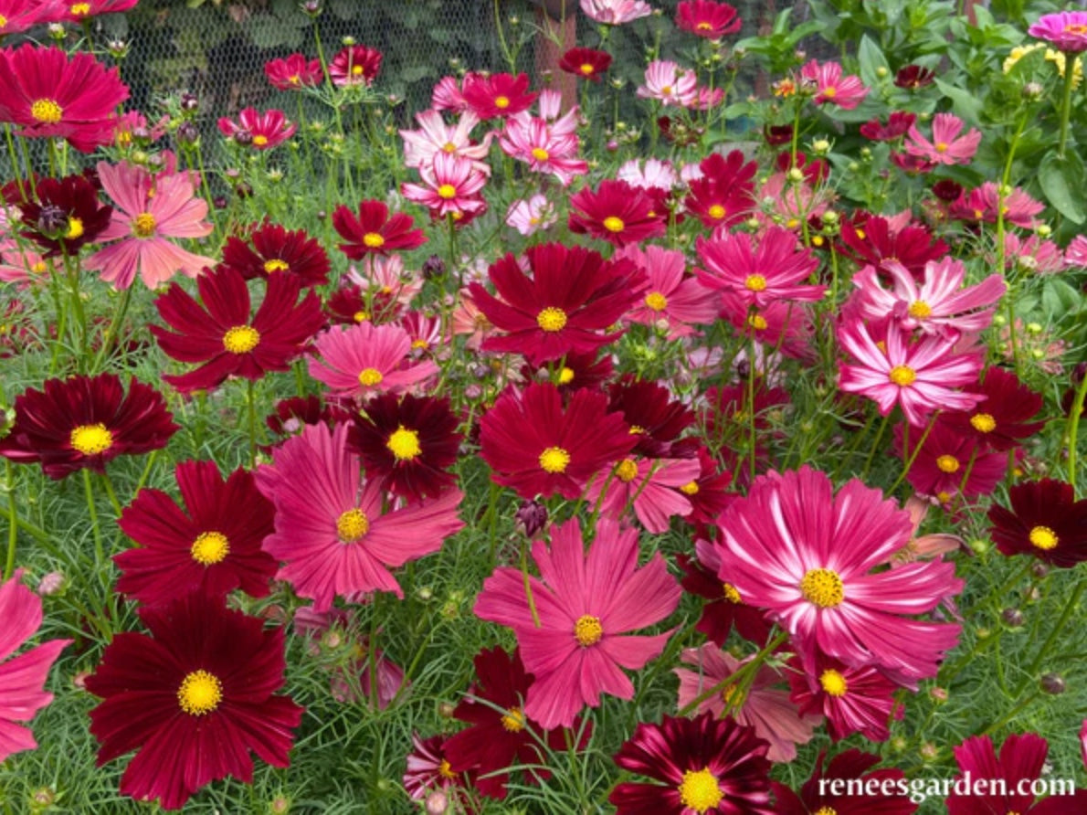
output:
<svg viewBox="0 0 1087 815"><path fill-rule="evenodd" d="M685 648L679 660L692 666L675 668L679 677L679 707L686 707L710 688L726 681L752 657L737 660L712 642L701 648ZM739 680L737 680L739 681ZM807 744L815 736L815 728L823 720L819 714L801 715L789 699L787 689L774 686L785 681L775 668L762 665L754 679L740 694L737 685L726 685L698 705L698 712L710 711L717 718L729 715L745 727L753 727L755 736L770 742L766 757L772 762L790 762L797 757L797 744Z"/></svg>

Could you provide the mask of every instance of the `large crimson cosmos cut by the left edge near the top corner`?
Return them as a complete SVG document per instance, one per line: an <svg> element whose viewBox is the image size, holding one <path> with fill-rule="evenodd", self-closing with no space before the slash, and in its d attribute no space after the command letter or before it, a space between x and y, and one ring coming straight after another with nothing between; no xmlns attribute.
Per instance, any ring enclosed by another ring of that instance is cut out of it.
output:
<svg viewBox="0 0 1087 815"><path fill-rule="evenodd" d="M84 153L112 143L114 111L128 98L117 68L27 42L0 52L0 120L22 125L20 136L66 139Z"/></svg>

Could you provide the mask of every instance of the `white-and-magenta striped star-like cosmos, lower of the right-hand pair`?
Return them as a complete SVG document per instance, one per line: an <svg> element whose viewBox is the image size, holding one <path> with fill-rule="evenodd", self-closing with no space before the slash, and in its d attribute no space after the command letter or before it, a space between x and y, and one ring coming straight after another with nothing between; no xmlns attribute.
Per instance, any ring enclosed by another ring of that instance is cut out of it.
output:
<svg viewBox="0 0 1087 815"><path fill-rule="evenodd" d="M915 427L924 425L933 411L969 411L982 401L975 393L953 390L977 381L980 352L957 354L954 340L939 336L908 340L909 335L890 323L884 350L860 319L844 324L838 341L858 364L839 363L838 388L874 400L883 416L901 404Z"/></svg>

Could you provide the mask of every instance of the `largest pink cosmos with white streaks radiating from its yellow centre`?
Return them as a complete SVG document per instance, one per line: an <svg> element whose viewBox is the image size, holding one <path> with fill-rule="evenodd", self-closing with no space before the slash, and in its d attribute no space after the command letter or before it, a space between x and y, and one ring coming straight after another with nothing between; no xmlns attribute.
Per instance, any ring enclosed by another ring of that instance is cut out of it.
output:
<svg viewBox="0 0 1087 815"><path fill-rule="evenodd" d="M959 626L912 619L962 590L940 560L873 572L913 534L910 514L876 489L804 466L755 479L719 521L719 577L792 635L805 670L824 653L876 664L903 684L935 676Z"/></svg>

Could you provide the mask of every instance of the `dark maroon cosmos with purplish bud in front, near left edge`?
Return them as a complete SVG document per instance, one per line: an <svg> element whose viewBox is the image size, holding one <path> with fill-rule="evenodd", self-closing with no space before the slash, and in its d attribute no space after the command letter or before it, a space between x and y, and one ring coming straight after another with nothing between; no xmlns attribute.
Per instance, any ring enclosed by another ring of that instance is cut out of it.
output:
<svg viewBox="0 0 1087 815"><path fill-rule="evenodd" d="M74 258L110 225L113 208L98 200L98 189L84 175L40 178L25 191L26 198L12 201L26 227L21 235L47 250L46 258Z"/></svg>

